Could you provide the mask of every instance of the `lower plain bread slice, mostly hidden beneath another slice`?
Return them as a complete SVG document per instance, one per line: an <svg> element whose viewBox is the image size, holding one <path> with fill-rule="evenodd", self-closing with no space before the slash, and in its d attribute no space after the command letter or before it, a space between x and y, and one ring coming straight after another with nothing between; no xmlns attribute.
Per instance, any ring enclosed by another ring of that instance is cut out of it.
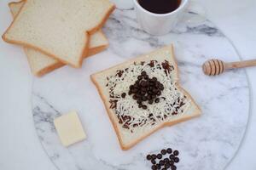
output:
<svg viewBox="0 0 256 170"><path fill-rule="evenodd" d="M24 1L9 3L11 14L15 16L19 13ZM108 40L102 31L96 31L90 35L89 52L87 56L97 54L108 47ZM54 71L55 69L63 66L64 64L57 59L53 59L46 54L39 52L33 48L24 48L27 56L32 74L38 77ZM84 56L84 57L87 57Z"/></svg>

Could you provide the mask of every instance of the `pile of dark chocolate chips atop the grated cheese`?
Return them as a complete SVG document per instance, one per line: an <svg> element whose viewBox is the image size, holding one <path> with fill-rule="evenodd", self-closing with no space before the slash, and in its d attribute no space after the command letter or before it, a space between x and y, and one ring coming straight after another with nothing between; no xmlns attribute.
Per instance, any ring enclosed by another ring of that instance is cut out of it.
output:
<svg viewBox="0 0 256 170"><path fill-rule="evenodd" d="M147 72L143 71L137 77L137 81L130 86L128 94L133 94L132 99L137 100L138 107L146 110L148 106L143 104L143 102L148 101L150 105L154 102L159 103L160 99L158 97L163 89L164 85L156 77L149 78ZM122 97L125 97L125 93L122 94Z"/></svg>

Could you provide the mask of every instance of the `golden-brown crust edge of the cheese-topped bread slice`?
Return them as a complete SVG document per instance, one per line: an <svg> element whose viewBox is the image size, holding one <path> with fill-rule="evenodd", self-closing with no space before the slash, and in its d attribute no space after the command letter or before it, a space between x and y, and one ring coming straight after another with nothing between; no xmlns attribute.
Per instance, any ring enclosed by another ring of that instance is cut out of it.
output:
<svg viewBox="0 0 256 170"><path fill-rule="evenodd" d="M178 73L178 70L177 70L177 61L176 61L176 59L175 59L175 55L174 55L173 52L174 52L174 50L173 50L173 46L172 46L172 56L173 56L173 60L174 60L174 63L172 63L172 64L174 65L174 67L175 67L175 69L176 69L176 71L177 71L177 73ZM142 57L143 57L143 56L142 56ZM139 56L139 57L136 58L136 59L129 59L129 60L126 61L126 62L129 62L129 61L136 61L137 59L141 59L142 57ZM121 63L121 64L119 64L119 65L124 65L124 63ZM107 70L105 70L105 71L108 71L108 70L110 70L110 69L113 69L113 68L115 68L115 67L117 67L117 66L119 66L119 65L114 65L113 67L110 67L109 69L107 69ZM98 73L101 73L101 72L104 72L104 71L99 71ZM189 116L183 116L182 118L179 118L178 120L175 120L175 121L172 121L172 122L162 122L162 123L160 124L160 126L155 127L153 130L150 131L150 133L146 133L145 135L141 136L140 138L138 138L138 139L132 141L130 144L124 144L124 143L123 143L123 140L122 140L122 138L121 138L121 134L120 134L120 132L119 132L119 128L117 127L117 126L118 126L118 125L117 125L118 121L115 120L116 117L113 117L113 116L115 116L115 114L113 114L112 111L109 109L109 107L108 107L108 99L106 99L105 96L102 94L102 91L103 91L103 90L102 90L100 84L96 81L96 74L98 74L98 73L95 73L95 74L93 74L93 75L90 75L90 79L91 79L91 81L95 84L95 86L96 86L96 88L97 88L97 91L98 91L98 93L100 94L100 96L101 96L101 98L102 98L102 101L103 101L103 103L104 103L104 105L105 105L105 108L106 108L106 110L107 110L107 113L108 113L108 117L110 118L110 121L112 122L114 131L115 131L115 133L117 134L117 137L118 137L118 140L119 140L119 145L120 145L120 147L121 147L122 150L129 150L129 149L131 149L131 147L133 147L134 145L136 145L137 143L139 143L139 142L142 141L143 139L147 138L150 134L156 132L157 130L159 130L159 129L162 128L162 127L172 126L172 125L177 124L177 123L179 123L179 122L184 122L184 121L187 121L187 120L189 120L189 119L191 119L191 118L193 118L193 117L196 117L196 116L200 116L200 115L201 115L201 109L199 108L198 105L196 105L195 100L189 95L189 93L187 93L183 88L181 88L181 86L180 86L180 84L179 84L178 74L176 74L176 76L177 76L177 82L176 82L177 88L178 88L179 90L181 90L181 91L183 92L183 94L187 95L187 96L189 97L189 99L191 99L190 102L192 102L193 105L195 105L195 107L196 107L196 109L195 109L195 111L193 112L193 114L190 114Z"/></svg>

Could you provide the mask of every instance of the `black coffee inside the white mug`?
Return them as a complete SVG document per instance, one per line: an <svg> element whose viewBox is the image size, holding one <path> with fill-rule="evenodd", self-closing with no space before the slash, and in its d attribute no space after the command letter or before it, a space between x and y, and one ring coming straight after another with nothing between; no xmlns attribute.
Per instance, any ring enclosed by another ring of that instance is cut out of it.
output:
<svg viewBox="0 0 256 170"><path fill-rule="evenodd" d="M181 0L137 0L146 10L155 14L166 14L176 10Z"/></svg>

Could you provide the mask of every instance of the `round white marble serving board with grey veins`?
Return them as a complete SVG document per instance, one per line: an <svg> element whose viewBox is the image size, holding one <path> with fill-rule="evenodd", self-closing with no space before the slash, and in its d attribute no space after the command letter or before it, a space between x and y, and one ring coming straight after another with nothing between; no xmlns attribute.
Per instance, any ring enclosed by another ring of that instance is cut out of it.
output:
<svg viewBox="0 0 256 170"><path fill-rule="evenodd" d="M193 14L186 14L190 17ZM239 60L235 48L212 23L181 22L170 34L152 37L137 25L132 8L117 8L103 31L110 46L85 59L81 69L64 66L34 78L32 113L42 146L61 170L149 169L148 153L162 148L180 150L180 170L221 170L236 154L247 127L249 88L243 70L207 77L201 65L217 57ZM202 115L165 127L131 150L121 150L107 112L90 74L173 43L180 82L201 107ZM53 120L78 111L87 139L68 148L61 145Z"/></svg>

